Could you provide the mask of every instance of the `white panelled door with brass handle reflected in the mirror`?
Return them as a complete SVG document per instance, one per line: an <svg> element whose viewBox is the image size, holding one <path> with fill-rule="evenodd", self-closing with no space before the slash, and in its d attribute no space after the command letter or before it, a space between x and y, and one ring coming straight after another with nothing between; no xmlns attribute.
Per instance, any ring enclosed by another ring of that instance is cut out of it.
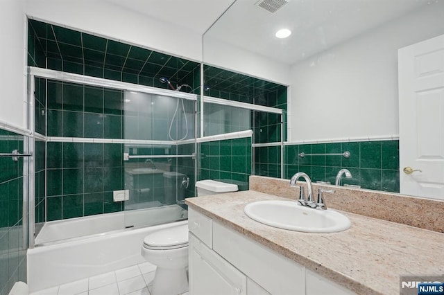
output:
<svg viewBox="0 0 444 295"><path fill-rule="evenodd" d="M444 35L401 48L398 71L400 193L444 199Z"/></svg>

